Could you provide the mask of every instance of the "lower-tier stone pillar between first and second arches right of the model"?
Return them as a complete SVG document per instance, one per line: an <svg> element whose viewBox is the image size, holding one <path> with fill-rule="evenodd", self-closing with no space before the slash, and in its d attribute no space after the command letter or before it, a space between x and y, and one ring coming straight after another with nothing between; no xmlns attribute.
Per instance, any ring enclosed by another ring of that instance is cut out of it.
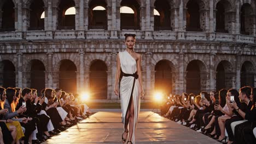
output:
<svg viewBox="0 0 256 144"><path fill-rule="evenodd" d="M184 53L179 53L179 93L185 92L184 87Z"/></svg>

